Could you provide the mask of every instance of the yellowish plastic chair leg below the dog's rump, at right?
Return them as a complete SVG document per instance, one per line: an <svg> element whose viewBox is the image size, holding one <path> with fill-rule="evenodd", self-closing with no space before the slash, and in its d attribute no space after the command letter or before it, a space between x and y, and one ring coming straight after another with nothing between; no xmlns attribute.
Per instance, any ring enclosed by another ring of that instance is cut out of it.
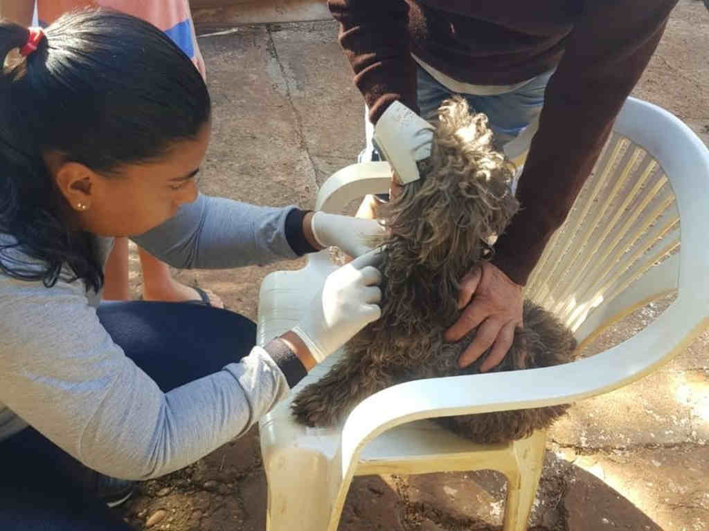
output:
<svg viewBox="0 0 709 531"><path fill-rule="evenodd" d="M517 469L508 472L507 501L503 531L526 531L537 486L542 475L547 432L537 430L526 439L513 442Z"/></svg>

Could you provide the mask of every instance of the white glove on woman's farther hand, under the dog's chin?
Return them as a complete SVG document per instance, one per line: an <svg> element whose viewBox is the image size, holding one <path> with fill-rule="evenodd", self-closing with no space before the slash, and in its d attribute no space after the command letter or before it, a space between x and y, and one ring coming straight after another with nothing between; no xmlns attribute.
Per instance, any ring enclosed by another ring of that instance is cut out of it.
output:
<svg viewBox="0 0 709 531"><path fill-rule="evenodd" d="M367 244L369 236L384 234L384 227L376 219L340 216L316 212L311 221L313 236L323 247L337 246L352 257L372 250Z"/></svg>

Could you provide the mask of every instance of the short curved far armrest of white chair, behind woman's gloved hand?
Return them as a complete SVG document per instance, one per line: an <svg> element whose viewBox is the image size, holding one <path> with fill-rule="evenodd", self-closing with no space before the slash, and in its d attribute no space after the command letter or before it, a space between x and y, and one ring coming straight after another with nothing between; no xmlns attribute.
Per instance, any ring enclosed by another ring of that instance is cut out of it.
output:
<svg viewBox="0 0 709 531"><path fill-rule="evenodd" d="M368 193L389 191L391 166L388 162L350 164L336 171L320 187L316 210L340 214L353 200Z"/></svg>

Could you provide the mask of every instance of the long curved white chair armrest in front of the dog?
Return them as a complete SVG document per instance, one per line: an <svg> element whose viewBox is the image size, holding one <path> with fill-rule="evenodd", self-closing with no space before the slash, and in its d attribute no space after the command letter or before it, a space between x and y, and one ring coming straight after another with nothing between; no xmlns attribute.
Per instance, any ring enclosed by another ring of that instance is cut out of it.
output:
<svg viewBox="0 0 709 531"><path fill-rule="evenodd" d="M565 365L420 379L384 389L362 401L342 428L342 474L353 472L367 442L403 423L568 404L629 384L671 359L709 326L709 317L688 319L691 315L677 299L629 340Z"/></svg>

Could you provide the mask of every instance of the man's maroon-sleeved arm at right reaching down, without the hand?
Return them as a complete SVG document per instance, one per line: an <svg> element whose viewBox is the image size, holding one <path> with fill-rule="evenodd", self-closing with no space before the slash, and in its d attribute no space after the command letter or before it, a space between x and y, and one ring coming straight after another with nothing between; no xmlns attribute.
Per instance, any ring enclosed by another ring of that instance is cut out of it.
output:
<svg viewBox="0 0 709 531"><path fill-rule="evenodd" d="M596 7L580 21L547 86L540 127L517 189L522 209L495 244L493 263L525 285L547 241L571 210L613 128L615 116L647 66L676 0ZM596 42L598 28L604 40Z"/></svg>

